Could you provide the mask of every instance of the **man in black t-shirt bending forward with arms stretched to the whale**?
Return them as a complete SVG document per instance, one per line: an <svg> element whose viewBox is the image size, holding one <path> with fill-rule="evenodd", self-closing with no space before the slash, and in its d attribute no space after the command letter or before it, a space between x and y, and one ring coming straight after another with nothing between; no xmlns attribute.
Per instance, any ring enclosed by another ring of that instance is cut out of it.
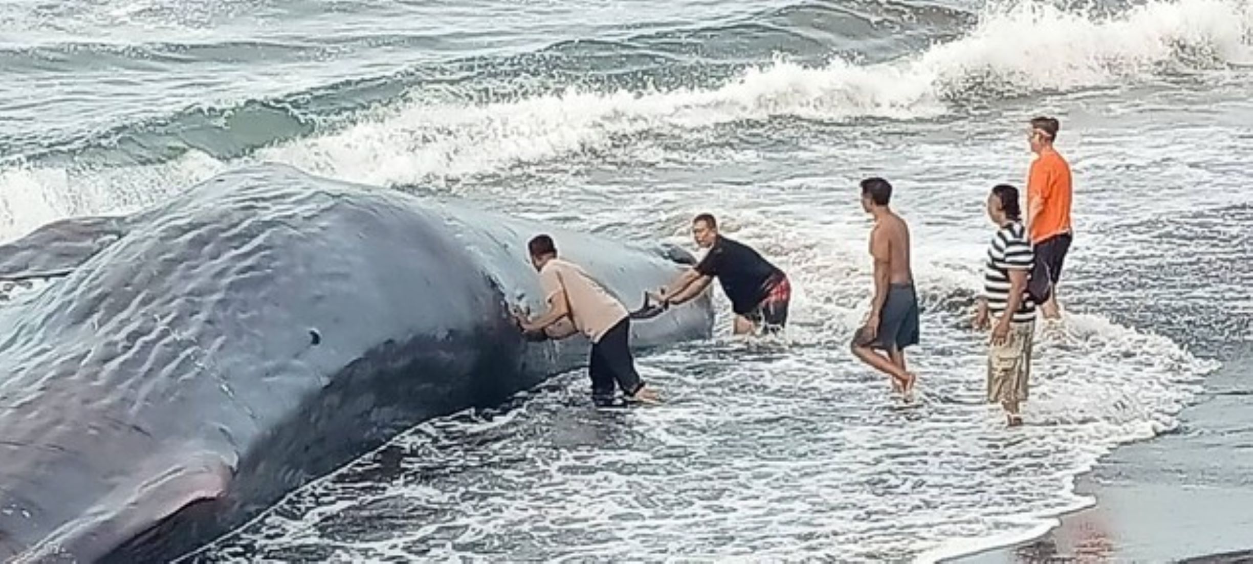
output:
<svg viewBox="0 0 1253 564"><path fill-rule="evenodd" d="M702 213L692 221L692 237L705 257L655 296L663 305L679 305L700 295L714 277L722 283L736 312L734 332L743 335L761 327L777 332L787 325L792 286L783 271L748 246L718 234L718 222Z"/></svg>

